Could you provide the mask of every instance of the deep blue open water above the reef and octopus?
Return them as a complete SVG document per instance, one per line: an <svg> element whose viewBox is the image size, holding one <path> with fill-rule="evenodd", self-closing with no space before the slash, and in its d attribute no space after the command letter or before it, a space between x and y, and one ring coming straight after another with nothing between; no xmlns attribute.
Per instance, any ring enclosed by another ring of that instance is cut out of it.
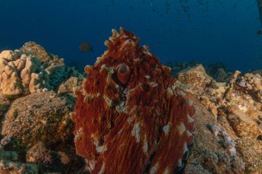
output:
<svg viewBox="0 0 262 174"><path fill-rule="evenodd" d="M106 47L111 29L135 32L141 45L168 61L223 62L262 69L256 0L0 0L0 50L35 41L81 71ZM87 41L94 52L82 53Z"/></svg>

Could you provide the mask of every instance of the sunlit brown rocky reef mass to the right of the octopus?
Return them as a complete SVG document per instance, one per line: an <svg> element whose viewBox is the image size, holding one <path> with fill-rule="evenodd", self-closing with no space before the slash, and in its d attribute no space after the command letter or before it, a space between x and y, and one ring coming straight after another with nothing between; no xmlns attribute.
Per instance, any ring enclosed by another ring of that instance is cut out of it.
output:
<svg viewBox="0 0 262 174"><path fill-rule="evenodd" d="M188 80L195 74L183 75L179 79L202 104L193 102L196 109L195 141L182 173L261 173L261 77L253 74L239 76L241 72L236 71L229 80L225 80L229 76L224 80L221 76L220 79L229 84L212 80L210 84L203 85L204 74ZM219 79L217 76L214 78ZM210 117L212 115L214 118ZM207 125L210 124L217 125L210 131L214 135L208 132ZM226 132L225 135L219 133L221 129Z"/></svg>

